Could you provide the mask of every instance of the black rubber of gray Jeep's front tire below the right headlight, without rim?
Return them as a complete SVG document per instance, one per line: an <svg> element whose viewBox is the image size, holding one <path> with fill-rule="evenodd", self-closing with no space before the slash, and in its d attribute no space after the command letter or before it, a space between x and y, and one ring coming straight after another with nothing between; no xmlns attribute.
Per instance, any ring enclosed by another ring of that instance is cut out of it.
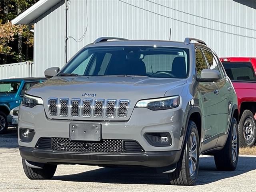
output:
<svg viewBox="0 0 256 192"><path fill-rule="evenodd" d="M176 170L172 173L169 173L170 184L172 185L193 185L196 182L198 175L198 165L199 165L199 136L196 124L193 121L189 121L188 123L188 136L186 138L186 142L184 143L184 147L182 150L182 154L180 156L180 160L177 163ZM189 140L190 136L196 136L196 149L197 149L197 161L196 168L194 174L190 174L189 170Z"/></svg>

